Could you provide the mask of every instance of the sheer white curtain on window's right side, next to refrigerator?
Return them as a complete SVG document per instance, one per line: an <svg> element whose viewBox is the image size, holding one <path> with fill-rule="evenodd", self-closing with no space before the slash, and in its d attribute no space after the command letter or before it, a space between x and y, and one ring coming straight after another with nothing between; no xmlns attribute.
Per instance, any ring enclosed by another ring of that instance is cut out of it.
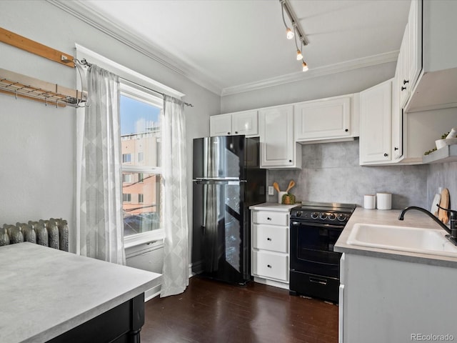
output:
<svg viewBox="0 0 457 343"><path fill-rule="evenodd" d="M186 123L184 103L164 96L162 130L162 221L164 269L161 297L180 294L189 284Z"/></svg>

